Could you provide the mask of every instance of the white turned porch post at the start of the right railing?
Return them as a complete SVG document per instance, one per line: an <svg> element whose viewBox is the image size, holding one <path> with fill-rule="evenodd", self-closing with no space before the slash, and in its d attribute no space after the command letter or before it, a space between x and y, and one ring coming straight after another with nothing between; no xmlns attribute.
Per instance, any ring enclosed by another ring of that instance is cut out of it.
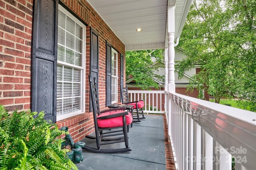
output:
<svg viewBox="0 0 256 170"><path fill-rule="evenodd" d="M170 92L175 92L175 78L174 78L174 5L168 6L168 135L171 136L171 114L173 114L174 108L172 108L172 99Z"/></svg>

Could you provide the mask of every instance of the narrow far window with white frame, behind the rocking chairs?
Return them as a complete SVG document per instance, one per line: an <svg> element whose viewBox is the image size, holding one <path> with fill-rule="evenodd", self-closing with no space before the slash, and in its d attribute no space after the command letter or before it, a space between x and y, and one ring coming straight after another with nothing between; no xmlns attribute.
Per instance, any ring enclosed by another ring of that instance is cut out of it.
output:
<svg viewBox="0 0 256 170"><path fill-rule="evenodd" d="M111 64L112 64L112 68L111 68L111 102L112 103L116 103L117 102L117 57L118 57L118 53L116 50L112 49L111 51Z"/></svg>

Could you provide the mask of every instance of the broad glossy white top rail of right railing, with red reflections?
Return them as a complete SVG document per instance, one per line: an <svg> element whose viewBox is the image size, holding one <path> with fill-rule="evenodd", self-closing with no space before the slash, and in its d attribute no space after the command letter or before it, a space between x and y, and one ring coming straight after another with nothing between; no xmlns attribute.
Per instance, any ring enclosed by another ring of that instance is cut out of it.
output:
<svg viewBox="0 0 256 170"><path fill-rule="evenodd" d="M256 113L170 93L172 100L181 107L202 129L230 154L246 156L245 168L256 167ZM174 112L174 114L180 114ZM237 150L238 149L238 150ZM241 154L241 151L245 152Z"/></svg>

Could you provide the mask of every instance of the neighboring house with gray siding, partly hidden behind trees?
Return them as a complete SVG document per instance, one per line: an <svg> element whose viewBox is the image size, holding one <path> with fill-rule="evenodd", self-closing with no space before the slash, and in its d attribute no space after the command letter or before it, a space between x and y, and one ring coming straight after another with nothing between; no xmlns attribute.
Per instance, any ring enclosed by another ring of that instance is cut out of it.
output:
<svg viewBox="0 0 256 170"><path fill-rule="evenodd" d="M184 59L185 57L187 57L187 55L185 54L185 52L176 47L175 48L175 58L174 58L174 62L176 63L176 61L182 61L182 59ZM151 58L151 60L154 62L154 64L159 64L159 63L155 63L156 59L155 58ZM154 65L153 65L154 66ZM181 78L180 80L178 79L178 70L175 71L175 90L176 93L179 94L183 94L186 96L191 96L194 98L198 98L198 90L196 88L194 88L193 92L190 93L189 91L187 92L187 88L188 88L188 84L189 84L189 80L190 78L196 74L197 72L200 71L200 66L196 66L191 68L191 70L185 72L183 78ZM163 76L165 75L165 70L164 70L164 64L162 68L159 68L158 71L154 71L154 74ZM134 82L133 77L130 77L126 80L127 86L128 86L128 90L141 90L140 88L136 87L136 82ZM164 79L160 80L158 78L153 78L154 81L158 84L159 89L155 89L153 87L151 87L151 90L164 90ZM206 91L202 91L203 92L203 98L204 100L208 100L209 101L209 94Z"/></svg>

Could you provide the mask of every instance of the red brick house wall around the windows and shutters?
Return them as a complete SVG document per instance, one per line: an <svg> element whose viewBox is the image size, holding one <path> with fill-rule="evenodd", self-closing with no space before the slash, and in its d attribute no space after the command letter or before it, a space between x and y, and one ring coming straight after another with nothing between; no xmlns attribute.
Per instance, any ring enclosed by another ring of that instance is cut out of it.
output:
<svg viewBox="0 0 256 170"><path fill-rule="evenodd" d="M100 107L105 107L106 40L125 55L124 44L96 11L85 0L60 0L70 8L86 26L86 113L58 121L59 127L68 126L74 141L94 131L92 113L89 113L90 27L99 35L99 96ZM6 109L30 109L31 94L31 37L33 0L0 0L0 104ZM125 63L125 56L124 56ZM125 72L125 65L124 65ZM124 74L125 81L125 74ZM120 72L118 72L118 84ZM118 86L119 93L119 86ZM120 94L118 94L118 99Z"/></svg>

